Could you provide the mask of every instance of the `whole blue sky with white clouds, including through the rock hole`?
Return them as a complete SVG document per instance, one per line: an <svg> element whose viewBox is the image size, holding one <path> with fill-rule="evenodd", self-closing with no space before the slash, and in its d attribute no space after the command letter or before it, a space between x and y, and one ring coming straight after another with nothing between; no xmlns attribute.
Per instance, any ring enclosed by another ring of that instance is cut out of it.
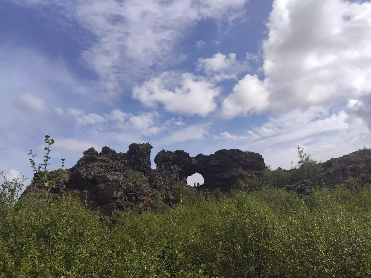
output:
<svg viewBox="0 0 371 278"><path fill-rule="evenodd" d="M0 0L0 169L132 142L288 169L371 147L371 2ZM203 183L201 175L188 183Z"/></svg>

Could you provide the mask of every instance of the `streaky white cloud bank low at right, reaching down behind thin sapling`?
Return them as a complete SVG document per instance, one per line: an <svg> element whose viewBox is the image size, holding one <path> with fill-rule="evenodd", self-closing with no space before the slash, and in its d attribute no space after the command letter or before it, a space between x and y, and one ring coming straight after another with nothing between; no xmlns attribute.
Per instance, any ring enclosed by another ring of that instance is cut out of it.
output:
<svg viewBox="0 0 371 278"><path fill-rule="evenodd" d="M361 119L350 122L345 110L330 113L316 106L271 116L242 134L222 132L216 138L233 148L260 153L267 164L287 169L290 160L294 164L298 160L297 145L312 153L313 158L325 161L367 146L371 133Z"/></svg>

